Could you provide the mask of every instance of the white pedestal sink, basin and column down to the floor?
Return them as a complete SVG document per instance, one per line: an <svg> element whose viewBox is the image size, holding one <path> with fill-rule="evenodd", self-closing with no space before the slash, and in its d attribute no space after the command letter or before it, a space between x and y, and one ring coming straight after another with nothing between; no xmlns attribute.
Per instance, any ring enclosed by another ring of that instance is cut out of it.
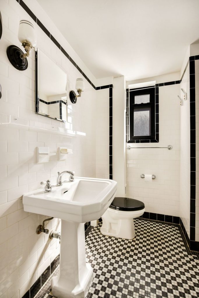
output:
<svg viewBox="0 0 199 298"><path fill-rule="evenodd" d="M104 214L116 189L113 180L75 177L50 193L40 188L23 195L24 211L61 218L60 268L51 284L54 296L86 296L93 271L86 263L84 223Z"/></svg>

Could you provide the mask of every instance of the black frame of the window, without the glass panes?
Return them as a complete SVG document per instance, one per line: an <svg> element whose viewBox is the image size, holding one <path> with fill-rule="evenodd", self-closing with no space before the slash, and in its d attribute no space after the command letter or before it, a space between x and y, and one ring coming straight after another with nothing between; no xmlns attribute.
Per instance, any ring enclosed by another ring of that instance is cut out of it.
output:
<svg viewBox="0 0 199 298"><path fill-rule="evenodd" d="M150 102L149 103L139 103L135 104L135 96L136 95L144 95L150 94ZM150 127L151 134L149 136L134 136L134 109L135 108L150 108ZM136 140L155 140L155 86L150 88L141 88L135 90L129 90L129 141Z"/></svg>

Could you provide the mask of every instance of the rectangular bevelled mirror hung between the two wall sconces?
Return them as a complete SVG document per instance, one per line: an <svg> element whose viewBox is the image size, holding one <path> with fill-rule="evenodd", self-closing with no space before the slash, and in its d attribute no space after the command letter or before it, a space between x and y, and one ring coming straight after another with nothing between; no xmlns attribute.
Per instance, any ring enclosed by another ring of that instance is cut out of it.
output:
<svg viewBox="0 0 199 298"><path fill-rule="evenodd" d="M35 52L36 114L67 122L67 75L40 49Z"/></svg>

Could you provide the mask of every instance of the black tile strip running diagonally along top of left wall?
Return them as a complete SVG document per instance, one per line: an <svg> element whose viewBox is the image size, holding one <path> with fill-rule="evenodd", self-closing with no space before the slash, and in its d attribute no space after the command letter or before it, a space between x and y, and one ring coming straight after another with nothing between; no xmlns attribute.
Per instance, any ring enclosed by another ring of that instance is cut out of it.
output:
<svg viewBox="0 0 199 298"><path fill-rule="evenodd" d="M88 81L88 83L95 89L95 85L89 80L89 78L84 74L84 72L81 70L81 68L75 63L75 61L68 55L68 53L64 50L64 48L61 46L61 44L58 43L58 41L54 38L54 36L47 30L47 28L41 23L41 21L34 15L34 13L30 10L29 7L24 3L22 0L16 0L17 3L21 5L21 7L30 15L30 17L33 19L33 21L38 24L38 26L41 28L41 30L54 42L54 44L58 47L58 49L61 50L61 52L65 55L67 59L70 60L70 62L78 69L78 71L85 77L85 79ZM109 86L109 85L107 85ZM109 88L109 87L107 87Z"/></svg>

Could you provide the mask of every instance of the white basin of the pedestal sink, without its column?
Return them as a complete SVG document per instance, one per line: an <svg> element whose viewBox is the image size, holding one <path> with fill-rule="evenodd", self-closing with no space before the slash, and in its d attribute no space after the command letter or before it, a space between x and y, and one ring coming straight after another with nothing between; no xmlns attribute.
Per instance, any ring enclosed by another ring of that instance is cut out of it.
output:
<svg viewBox="0 0 199 298"><path fill-rule="evenodd" d="M108 179L75 177L73 182L41 188L23 195L24 211L84 223L101 217L112 203L117 182Z"/></svg>

